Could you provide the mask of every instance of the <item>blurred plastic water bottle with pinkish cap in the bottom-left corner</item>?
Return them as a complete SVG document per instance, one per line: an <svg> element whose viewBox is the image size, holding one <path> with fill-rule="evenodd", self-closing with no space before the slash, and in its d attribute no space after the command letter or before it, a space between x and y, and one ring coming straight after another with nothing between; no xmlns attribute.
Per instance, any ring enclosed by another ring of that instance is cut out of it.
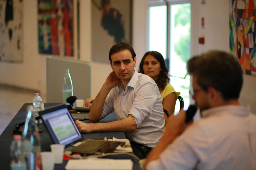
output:
<svg viewBox="0 0 256 170"><path fill-rule="evenodd" d="M10 145L10 168L11 170L26 170L26 162L22 152L21 135L13 135Z"/></svg>

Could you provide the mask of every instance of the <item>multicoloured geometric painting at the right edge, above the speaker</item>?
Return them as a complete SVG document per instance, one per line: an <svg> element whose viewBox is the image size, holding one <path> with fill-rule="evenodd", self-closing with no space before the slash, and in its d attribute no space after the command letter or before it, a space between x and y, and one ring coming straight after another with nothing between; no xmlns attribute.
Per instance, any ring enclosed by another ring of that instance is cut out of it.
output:
<svg viewBox="0 0 256 170"><path fill-rule="evenodd" d="M230 53L244 74L256 76L256 0L230 0Z"/></svg>

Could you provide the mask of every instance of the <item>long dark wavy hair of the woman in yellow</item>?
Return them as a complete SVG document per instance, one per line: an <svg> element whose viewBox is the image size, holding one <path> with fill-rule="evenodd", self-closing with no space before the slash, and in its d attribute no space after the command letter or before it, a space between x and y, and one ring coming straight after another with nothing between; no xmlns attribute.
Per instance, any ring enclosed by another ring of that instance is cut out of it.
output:
<svg viewBox="0 0 256 170"><path fill-rule="evenodd" d="M165 66L165 61L163 59L163 56L160 52L157 51L148 51L144 54L144 56L141 59L139 73L145 74L143 70L144 60L146 56L152 55L157 61L160 63L161 71L158 75L158 79L156 80L156 84L159 89L163 90L166 86L166 84L170 81L170 78L168 77L169 70Z"/></svg>

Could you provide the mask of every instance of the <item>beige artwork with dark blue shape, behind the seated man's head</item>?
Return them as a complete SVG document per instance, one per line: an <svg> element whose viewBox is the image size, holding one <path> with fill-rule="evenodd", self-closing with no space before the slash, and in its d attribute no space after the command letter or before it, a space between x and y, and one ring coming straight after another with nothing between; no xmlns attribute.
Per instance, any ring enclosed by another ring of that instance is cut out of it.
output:
<svg viewBox="0 0 256 170"><path fill-rule="evenodd" d="M118 42L132 45L132 0L92 1L92 61L109 63Z"/></svg>

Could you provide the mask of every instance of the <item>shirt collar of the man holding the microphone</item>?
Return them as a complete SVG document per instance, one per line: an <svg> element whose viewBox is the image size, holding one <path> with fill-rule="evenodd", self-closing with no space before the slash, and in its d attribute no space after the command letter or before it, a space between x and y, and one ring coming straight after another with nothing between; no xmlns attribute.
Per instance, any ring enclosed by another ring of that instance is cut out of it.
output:
<svg viewBox="0 0 256 170"><path fill-rule="evenodd" d="M250 114L249 106L239 106L239 105L228 105L228 106L218 106L213 107L202 112L202 117L208 117L217 113L230 113L236 116L248 116Z"/></svg>

